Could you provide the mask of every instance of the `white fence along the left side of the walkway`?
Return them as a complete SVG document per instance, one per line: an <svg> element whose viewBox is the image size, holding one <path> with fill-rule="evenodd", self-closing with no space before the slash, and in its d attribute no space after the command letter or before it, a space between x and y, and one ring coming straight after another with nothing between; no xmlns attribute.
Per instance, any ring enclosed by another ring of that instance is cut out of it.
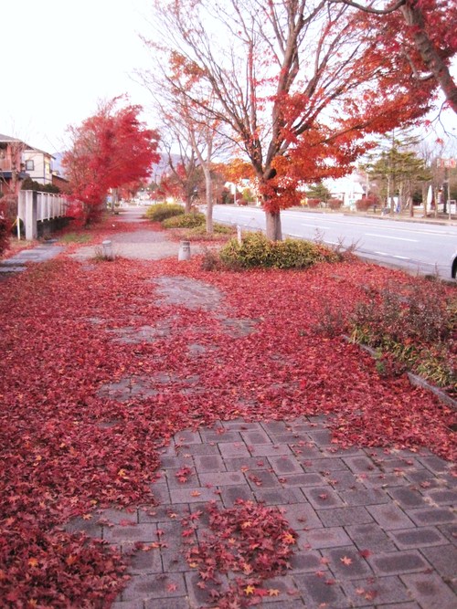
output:
<svg viewBox="0 0 457 609"><path fill-rule="evenodd" d="M69 203L59 194L21 190L17 203L17 216L26 228L26 239L36 239L38 222L64 217Z"/></svg>

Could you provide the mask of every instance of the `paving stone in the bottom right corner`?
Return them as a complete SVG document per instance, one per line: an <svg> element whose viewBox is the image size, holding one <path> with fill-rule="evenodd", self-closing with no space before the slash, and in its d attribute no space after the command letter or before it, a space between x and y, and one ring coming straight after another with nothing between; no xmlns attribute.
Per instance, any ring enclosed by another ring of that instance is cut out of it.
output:
<svg viewBox="0 0 457 609"><path fill-rule="evenodd" d="M420 607L455 609L457 596L435 573L411 573L400 577Z"/></svg>

